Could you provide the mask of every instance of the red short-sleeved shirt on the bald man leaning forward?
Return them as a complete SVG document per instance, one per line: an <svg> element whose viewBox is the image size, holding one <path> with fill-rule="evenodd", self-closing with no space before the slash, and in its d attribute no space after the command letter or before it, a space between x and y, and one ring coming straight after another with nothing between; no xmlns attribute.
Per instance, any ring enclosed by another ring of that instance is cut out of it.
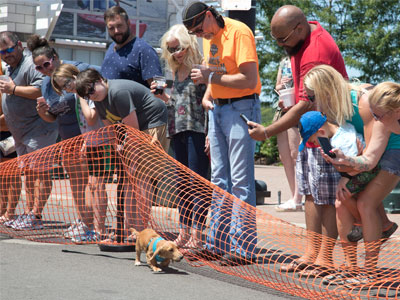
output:
<svg viewBox="0 0 400 300"><path fill-rule="evenodd" d="M303 87L303 79L307 72L317 65L330 65L348 79L342 54L332 36L318 22L308 23L317 25L317 28L306 38L300 51L291 57L296 103L309 101ZM316 147L312 143L307 143L307 146Z"/></svg>

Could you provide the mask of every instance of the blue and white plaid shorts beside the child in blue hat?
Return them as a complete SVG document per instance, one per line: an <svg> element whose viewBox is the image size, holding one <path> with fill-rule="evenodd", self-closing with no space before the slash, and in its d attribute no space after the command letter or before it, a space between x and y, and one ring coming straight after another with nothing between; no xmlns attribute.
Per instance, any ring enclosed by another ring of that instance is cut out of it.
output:
<svg viewBox="0 0 400 300"><path fill-rule="evenodd" d="M340 174L328 164L319 148L305 148L296 161L296 179L301 195L312 195L317 205L334 205Z"/></svg>

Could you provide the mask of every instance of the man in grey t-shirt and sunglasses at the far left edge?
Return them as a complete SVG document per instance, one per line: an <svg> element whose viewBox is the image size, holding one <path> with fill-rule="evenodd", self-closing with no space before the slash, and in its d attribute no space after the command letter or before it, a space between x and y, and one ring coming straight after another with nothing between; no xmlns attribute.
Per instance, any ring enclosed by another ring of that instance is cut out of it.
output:
<svg viewBox="0 0 400 300"><path fill-rule="evenodd" d="M7 126L14 138L18 156L31 153L35 150L52 145L56 142L57 124L48 123L40 118L36 111L36 98L42 95L41 85L43 75L35 70L32 56L29 51L24 51L21 41L15 33L3 31L0 33L0 55L6 62L5 74L10 80L0 81L2 96L2 109ZM39 192L47 199L51 191L51 181L43 173L31 169L32 164L23 165L26 181L27 205L25 214L19 216L18 224L23 226L15 229L39 229L42 227L40 216L43 207L36 205L34 193ZM41 178L41 184L36 185ZM14 184L14 183L13 183ZM21 190L21 183L15 182L16 188ZM36 187L35 187L36 185ZM39 187L40 191L37 190ZM20 192L16 192L19 195ZM18 201L10 203L11 214L15 211ZM16 220L10 220L9 226ZM14 222L15 221L15 222ZM24 221L24 222L22 222Z"/></svg>

